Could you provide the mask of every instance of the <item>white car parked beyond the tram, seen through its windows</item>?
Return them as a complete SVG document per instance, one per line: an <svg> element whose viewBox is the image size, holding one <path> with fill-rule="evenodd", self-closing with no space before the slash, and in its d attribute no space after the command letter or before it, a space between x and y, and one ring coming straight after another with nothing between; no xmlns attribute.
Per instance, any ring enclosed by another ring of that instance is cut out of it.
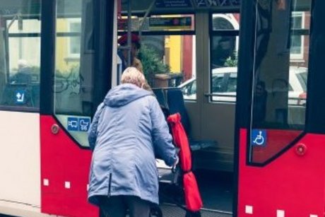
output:
<svg viewBox="0 0 325 217"><path fill-rule="evenodd" d="M196 78L190 78L178 86L184 100L196 100ZM212 100L235 102L237 90L237 67L224 67L212 71ZM275 79L268 93L288 92L289 105L305 105L307 97L307 68L290 67L289 86L283 79Z"/></svg>

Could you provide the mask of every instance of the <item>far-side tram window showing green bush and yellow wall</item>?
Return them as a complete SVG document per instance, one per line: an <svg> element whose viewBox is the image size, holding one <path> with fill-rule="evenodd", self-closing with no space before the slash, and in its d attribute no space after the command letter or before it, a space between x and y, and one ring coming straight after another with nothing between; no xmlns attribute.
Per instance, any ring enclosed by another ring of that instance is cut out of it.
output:
<svg viewBox="0 0 325 217"><path fill-rule="evenodd" d="M166 32L167 33L167 32ZM194 35L142 35L138 59L152 88L179 87L186 93L196 75ZM187 86L189 84L189 86ZM185 87L186 86L186 87ZM191 88L191 98L196 89ZM189 93L189 92L187 92Z"/></svg>

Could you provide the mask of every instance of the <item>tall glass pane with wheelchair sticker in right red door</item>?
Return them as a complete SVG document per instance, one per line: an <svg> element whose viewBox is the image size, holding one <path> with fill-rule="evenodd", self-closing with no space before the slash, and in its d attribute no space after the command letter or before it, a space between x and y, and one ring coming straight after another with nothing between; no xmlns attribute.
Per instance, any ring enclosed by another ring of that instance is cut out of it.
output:
<svg viewBox="0 0 325 217"><path fill-rule="evenodd" d="M283 2L256 1L252 163L266 163L305 128L310 2Z"/></svg>

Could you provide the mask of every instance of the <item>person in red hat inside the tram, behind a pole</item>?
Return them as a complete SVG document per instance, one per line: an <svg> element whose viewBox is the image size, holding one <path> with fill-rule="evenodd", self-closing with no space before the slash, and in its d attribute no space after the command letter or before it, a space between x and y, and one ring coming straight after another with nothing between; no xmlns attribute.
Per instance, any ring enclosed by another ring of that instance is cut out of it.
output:
<svg viewBox="0 0 325 217"><path fill-rule="evenodd" d="M128 66L128 49L121 49L121 47L124 47L127 45L127 34L122 35L117 42L119 43L120 47L117 51L117 54L119 55L119 58L122 60L122 71L126 69ZM138 51L141 48L141 42L138 35L132 33L131 34L131 66L134 66L138 71L141 71L143 73L143 66L140 61L140 59L137 58Z"/></svg>

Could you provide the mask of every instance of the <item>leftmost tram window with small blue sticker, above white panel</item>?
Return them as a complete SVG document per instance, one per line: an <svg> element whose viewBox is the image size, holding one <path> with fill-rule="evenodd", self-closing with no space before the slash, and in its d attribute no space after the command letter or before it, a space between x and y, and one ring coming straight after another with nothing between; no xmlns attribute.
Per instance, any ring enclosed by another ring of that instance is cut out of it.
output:
<svg viewBox="0 0 325 217"><path fill-rule="evenodd" d="M0 2L0 106L40 107L40 1Z"/></svg>

